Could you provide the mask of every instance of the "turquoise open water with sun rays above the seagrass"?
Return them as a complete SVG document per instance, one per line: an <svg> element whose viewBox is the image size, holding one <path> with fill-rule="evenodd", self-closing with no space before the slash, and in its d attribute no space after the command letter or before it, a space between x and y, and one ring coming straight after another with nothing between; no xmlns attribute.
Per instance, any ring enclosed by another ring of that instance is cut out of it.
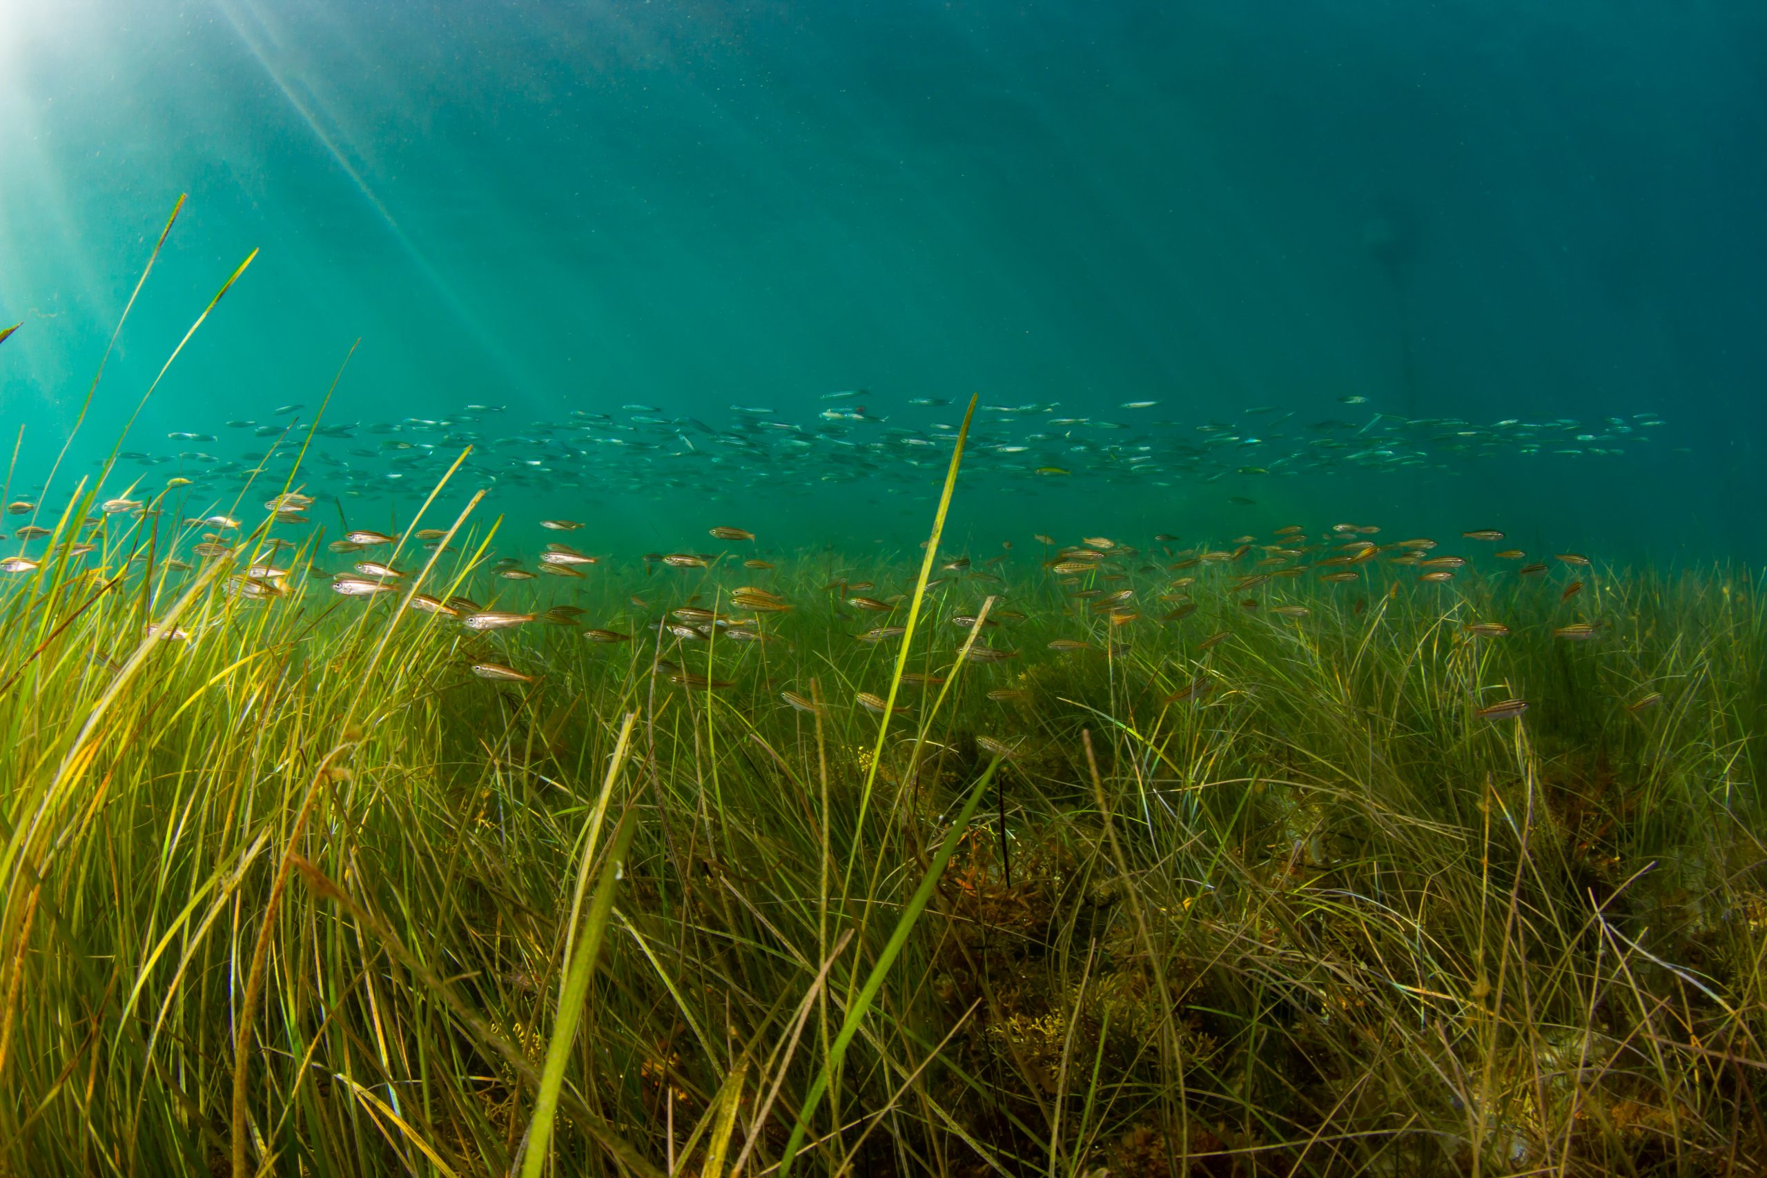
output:
<svg viewBox="0 0 1767 1178"><path fill-rule="evenodd" d="M44 503L258 249L110 493L231 502L267 443L224 422L299 438L360 339L320 422L357 429L300 477L337 495L327 525L405 519L474 434L449 502L491 487L514 521L590 521L587 547L714 523L899 544L937 500L935 426L979 394L1020 412L979 413L975 537L1343 516L1610 558L1767 542L1756 5L0 11L14 498L187 193ZM822 417L861 404L887 420ZM1546 445L1491 433L1558 419Z"/></svg>

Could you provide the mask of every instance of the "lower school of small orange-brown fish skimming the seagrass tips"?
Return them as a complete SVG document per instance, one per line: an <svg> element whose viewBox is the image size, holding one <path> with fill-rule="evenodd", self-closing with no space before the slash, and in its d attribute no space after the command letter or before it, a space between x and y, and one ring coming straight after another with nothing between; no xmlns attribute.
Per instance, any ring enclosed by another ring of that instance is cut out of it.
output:
<svg viewBox="0 0 1767 1178"><path fill-rule="evenodd" d="M857 645L885 645L906 634L906 615L914 595L919 562L884 565L885 572L869 578L836 576L809 588L802 579L802 558L793 567L799 586L793 600L777 586L739 585L739 581L765 581L776 570L774 560L756 551L755 532L730 523L707 528L707 535L723 547L705 553L643 553L638 560L617 562L560 540L546 542L546 549L528 567L516 556L495 556L481 551L477 563L452 581L456 592L436 597L412 588L413 567L438 558L438 549L459 556L449 546L449 533L438 528L410 528L406 533L352 528L341 539L325 542L322 526L306 517L315 503L311 495L290 491L263 503L267 517L249 523L228 514L187 517L170 533L163 533L159 509L141 500L113 498L99 503L97 514L88 514L80 528L62 530L41 525L16 528L23 547L49 537L48 551L30 555L19 551L0 556L4 574L42 574L53 555L76 562L97 551L104 528L115 517L124 517L134 530L134 540L122 547L129 551L127 565L145 565L163 576L184 576L196 570L196 562L228 562L221 588L226 595L253 604L281 599L300 599L306 593L332 593L343 599L360 599L364 608L375 600L398 600L403 608L433 615L454 623L472 636L463 650L465 669L497 683L535 683L546 676L541 662L527 664L523 645L516 632L525 627L571 627L590 645L615 646L634 643L645 650L648 671L661 680L689 689L714 691L737 683L735 673L744 648L763 645L792 646L800 636L785 615L800 604L815 606L818 618L834 627L845 625L850 641ZM5 505L12 516L34 514L37 505L14 500ZM154 528L141 528L150 517ZM546 532L576 533L585 525L569 519L539 519ZM290 540L272 535L276 528L300 528L302 539ZM1062 542L1051 535L1034 533L1020 540L1002 542L998 553L984 558L949 555L937 560L935 576L926 583L929 613L922 625L933 632L954 632L954 638L935 645L954 661L981 668L1011 664L1025 657L1012 641L1012 631L1034 616L1041 623L1069 629L1069 634L1039 641L1046 652L1041 657L1113 657L1133 650L1136 634L1147 627L1184 627L1179 641L1179 661L1168 666L1175 689L1164 694L1164 703L1200 705L1217 689L1210 675L1212 652L1233 638L1230 616L1265 616L1269 625L1309 627L1320 611L1334 613L1339 622L1369 609L1382 609L1412 581L1414 590L1435 593L1431 606L1452 622L1460 641L1481 643L1507 639L1511 623L1502 618L1468 616L1470 597L1456 597L1452 583L1458 578L1507 581L1513 600L1532 592L1532 609L1544 613L1550 636L1560 643L1590 643L1604 636L1610 625L1599 616L1599 579L1596 565L1581 553L1553 553L1550 560L1528 560L1518 547L1505 544L1505 533L1497 528L1468 528L1458 540L1468 555L1438 553L1431 537L1376 539L1382 528L1368 523L1332 523L1323 528L1286 525L1263 537L1240 535L1225 544L1189 542L1179 535L1157 533L1147 546L1129 544L1103 535ZM78 537L78 539L76 539ZM163 539L161 539L163 537ZM1032 547L1032 544L1035 547ZM385 549L385 556L373 556ZM1027 553L1032 556L1027 558ZM346 567L325 563L341 560ZM786 560L786 558L776 558ZM323 562L323 563L322 563ZM403 565L403 567L401 567ZM1477 565L1484 565L1479 569ZM571 581L588 581L585 569L595 569L597 581L574 588ZM1562 569L1562 579L1548 574ZM643 576L643 592L631 593L634 578ZM889 576L891 585L876 578ZM624 578L624 579L622 579ZM445 578L438 578L445 579ZM523 585L542 581L544 585ZM564 581L560 585L560 581ZM1539 590L1532 583L1546 581ZM1594 585L1585 597L1585 585ZM1285 585L1295 585L1285 593ZM477 588L474 588L477 586ZM624 600L608 608L610 590ZM489 595L481 602L466 595ZM558 600L560 593L578 600ZM514 600L511 600L514 599ZM974 608L968 602L977 600ZM1594 616L1578 613L1596 599ZM590 600L590 606L580 604ZM590 608L608 615L585 623ZM1202 616L1196 616L1202 615ZM1196 620L1191 620L1196 616ZM949 627L949 629L945 629ZM926 631L922 631L926 632ZM191 631L150 622L145 638L189 643L198 636ZM836 641L839 641L836 638ZM733 655L716 662L703 652L719 646ZM705 671L686 666L687 652L701 652ZM719 673L712 673L714 666ZM763 676L769 691L785 706L822 715L827 703L816 698L804 682L783 687L777 673L790 678L790 659L776 661ZM933 687L945 682L952 668L912 671L903 676L905 687ZM783 687L783 689L781 689ZM1012 701L1025 692L1012 685L988 689L993 701ZM1661 701L1659 692L1643 694L1626 703L1638 715ZM912 712L906 698L892 701L875 691L859 691L852 703L875 715ZM1528 701L1502 698L1472 701L1472 715L1484 721L1513 721L1528 710Z"/></svg>

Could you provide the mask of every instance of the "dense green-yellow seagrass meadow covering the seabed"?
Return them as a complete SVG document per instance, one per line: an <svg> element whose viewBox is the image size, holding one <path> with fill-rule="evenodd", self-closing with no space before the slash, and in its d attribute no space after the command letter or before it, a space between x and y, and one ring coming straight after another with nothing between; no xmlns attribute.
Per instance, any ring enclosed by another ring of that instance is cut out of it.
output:
<svg viewBox="0 0 1767 1178"><path fill-rule="evenodd" d="M959 434L921 547L558 574L322 420L23 509L0 1171L1767 1167L1755 572L975 551Z"/></svg>

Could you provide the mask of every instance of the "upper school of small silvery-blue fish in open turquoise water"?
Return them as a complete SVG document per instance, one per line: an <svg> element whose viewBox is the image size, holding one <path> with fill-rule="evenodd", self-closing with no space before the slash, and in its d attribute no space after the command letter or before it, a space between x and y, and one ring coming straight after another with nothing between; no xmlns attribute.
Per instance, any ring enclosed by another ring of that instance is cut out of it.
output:
<svg viewBox="0 0 1767 1178"><path fill-rule="evenodd" d="M1339 397L1361 406L1368 397ZM654 495L659 489L723 498L740 489L816 495L825 484L924 484L944 473L961 406L912 397L880 412L862 389L823 394L809 420L770 406L732 404L710 424L654 404L573 410L558 420L505 424L505 408L466 404L440 417L378 422L313 422L304 404L265 419L235 419L209 431L171 431L170 445L122 450L118 461L159 468L198 491L277 482L300 454L345 498L398 487L428 491L461 450L474 486L535 491ZM1458 417L1366 420L1306 419L1251 406L1232 420L1179 422L1159 401L1126 401L1101 417L1055 401L982 404L970 429L965 470L990 480L1101 480L1168 487L1233 477L1230 496L1249 502L1262 477L1341 470L1454 466L1497 456L1613 457L1643 445L1663 426L1654 413L1573 419ZM304 450L304 454L302 454ZM27 489L27 495L37 489Z"/></svg>

